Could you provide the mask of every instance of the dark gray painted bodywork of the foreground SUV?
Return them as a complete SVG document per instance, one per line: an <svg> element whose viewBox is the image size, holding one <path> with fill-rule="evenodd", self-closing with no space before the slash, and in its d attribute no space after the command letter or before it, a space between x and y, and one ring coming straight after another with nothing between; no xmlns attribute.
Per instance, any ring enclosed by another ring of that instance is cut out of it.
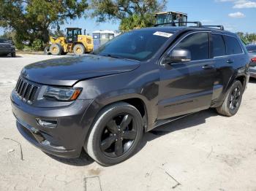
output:
<svg viewBox="0 0 256 191"><path fill-rule="evenodd" d="M57 139L66 150L37 147L61 157L78 157L94 119L108 104L138 98L146 109L146 130L161 121L222 104L234 80L242 77L244 87L249 79L249 56L245 47L240 55L227 55L203 61L162 64L162 59L184 36L195 32L211 32L235 36L210 28L159 27L154 31L170 31L173 36L148 61L86 55L42 61L26 66L22 76L42 85L83 87L78 100L72 102L40 99L29 105L12 92L12 111L20 125L36 128ZM141 30L153 30L152 28ZM211 39L211 35L210 35ZM241 43L241 42L240 42ZM212 44L210 44L212 47ZM211 50L211 48L210 48ZM207 66L207 67L206 67ZM56 129L40 127L36 118L58 120Z"/></svg>

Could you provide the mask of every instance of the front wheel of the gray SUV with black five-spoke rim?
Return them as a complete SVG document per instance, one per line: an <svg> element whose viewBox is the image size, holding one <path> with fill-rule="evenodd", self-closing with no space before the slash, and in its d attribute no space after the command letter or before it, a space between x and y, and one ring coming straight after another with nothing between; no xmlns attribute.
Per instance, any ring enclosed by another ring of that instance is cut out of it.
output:
<svg viewBox="0 0 256 191"><path fill-rule="evenodd" d="M142 136L143 120L138 109L119 102L99 113L85 149L97 163L116 165L135 153Z"/></svg>

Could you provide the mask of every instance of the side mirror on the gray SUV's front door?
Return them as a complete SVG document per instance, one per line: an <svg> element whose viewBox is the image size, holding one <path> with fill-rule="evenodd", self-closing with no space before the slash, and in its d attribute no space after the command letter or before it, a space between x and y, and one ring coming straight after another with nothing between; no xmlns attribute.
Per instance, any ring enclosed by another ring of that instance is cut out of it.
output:
<svg viewBox="0 0 256 191"><path fill-rule="evenodd" d="M184 49L174 49L163 61L163 64L185 63L191 61L191 52Z"/></svg>

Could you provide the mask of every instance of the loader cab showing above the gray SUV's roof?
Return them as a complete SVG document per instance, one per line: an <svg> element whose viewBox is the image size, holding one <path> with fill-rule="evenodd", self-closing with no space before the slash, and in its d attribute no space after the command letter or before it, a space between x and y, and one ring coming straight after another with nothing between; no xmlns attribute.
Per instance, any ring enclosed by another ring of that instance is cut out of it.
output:
<svg viewBox="0 0 256 191"><path fill-rule="evenodd" d="M187 26L187 14L183 12L158 12L154 14L156 25L170 23L171 26Z"/></svg>

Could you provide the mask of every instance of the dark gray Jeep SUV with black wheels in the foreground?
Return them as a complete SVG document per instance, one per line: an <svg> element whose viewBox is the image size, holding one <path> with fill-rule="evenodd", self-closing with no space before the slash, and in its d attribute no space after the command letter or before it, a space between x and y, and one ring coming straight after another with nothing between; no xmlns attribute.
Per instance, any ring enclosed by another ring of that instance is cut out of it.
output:
<svg viewBox="0 0 256 191"><path fill-rule="evenodd" d="M154 27L129 31L91 55L24 67L12 112L31 144L59 157L82 149L102 165L134 155L143 132L216 108L238 112L249 55L228 31Z"/></svg>

